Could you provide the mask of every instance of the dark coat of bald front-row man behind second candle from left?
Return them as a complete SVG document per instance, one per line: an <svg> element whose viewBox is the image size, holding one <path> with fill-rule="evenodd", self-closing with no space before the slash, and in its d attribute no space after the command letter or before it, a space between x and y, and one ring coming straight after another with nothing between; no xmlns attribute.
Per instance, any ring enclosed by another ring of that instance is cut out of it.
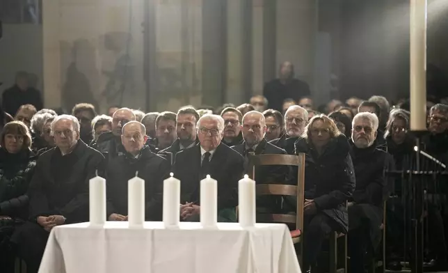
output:
<svg viewBox="0 0 448 273"><path fill-rule="evenodd" d="M168 178L170 164L144 146L135 158L126 153L115 157L106 169L107 216L112 213L128 214L127 181L136 176L145 180L145 214L147 221L161 221L161 194L163 180Z"/></svg>

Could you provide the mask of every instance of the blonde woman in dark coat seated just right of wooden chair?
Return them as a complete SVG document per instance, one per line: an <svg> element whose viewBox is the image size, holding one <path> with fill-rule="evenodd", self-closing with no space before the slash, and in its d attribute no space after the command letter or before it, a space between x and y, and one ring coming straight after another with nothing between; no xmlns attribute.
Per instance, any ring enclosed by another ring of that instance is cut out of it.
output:
<svg viewBox="0 0 448 273"><path fill-rule="evenodd" d="M296 153L306 155L303 271L307 272L326 236L349 229L346 201L355 189L355 173L349 141L328 116L314 116L295 146Z"/></svg>

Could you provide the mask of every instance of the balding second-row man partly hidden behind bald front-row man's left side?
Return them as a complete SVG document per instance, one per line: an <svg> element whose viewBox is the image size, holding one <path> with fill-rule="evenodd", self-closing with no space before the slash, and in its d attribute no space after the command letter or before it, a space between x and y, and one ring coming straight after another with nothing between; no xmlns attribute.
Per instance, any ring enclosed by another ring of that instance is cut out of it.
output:
<svg viewBox="0 0 448 273"><path fill-rule="evenodd" d="M112 132L105 132L99 135L98 140L92 143L92 147L106 154L106 159L118 157L125 153L121 143L122 128L129 121L136 120L136 115L129 108L121 108L115 111L112 116ZM91 135L91 130L90 130Z"/></svg>

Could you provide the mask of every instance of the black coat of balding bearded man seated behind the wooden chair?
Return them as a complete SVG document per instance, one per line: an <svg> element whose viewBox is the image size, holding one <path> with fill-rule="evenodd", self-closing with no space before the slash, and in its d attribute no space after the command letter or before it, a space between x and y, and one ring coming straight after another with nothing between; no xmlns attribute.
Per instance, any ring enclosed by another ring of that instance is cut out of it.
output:
<svg viewBox="0 0 448 273"><path fill-rule="evenodd" d="M245 160L245 173L252 173L247 169L248 152L246 142L232 147ZM263 139L255 149L255 155L286 155L286 151L268 143ZM293 184L290 176L291 169L288 166L257 166L255 167L255 182L260 184ZM294 183L297 184L297 180ZM291 210L288 210L291 211ZM257 196L257 212L260 213L282 213L282 196Z"/></svg>

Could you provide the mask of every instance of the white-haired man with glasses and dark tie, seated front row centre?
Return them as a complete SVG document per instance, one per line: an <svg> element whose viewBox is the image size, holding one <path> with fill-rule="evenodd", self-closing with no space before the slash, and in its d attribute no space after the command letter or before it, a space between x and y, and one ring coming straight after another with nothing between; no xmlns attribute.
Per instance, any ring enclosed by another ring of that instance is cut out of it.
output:
<svg viewBox="0 0 448 273"><path fill-rule="evenodd" d="M184 220L199 220L200 180L207 174L218 181L218 215L223 210L234 211L238 205L237 188L243 178L244 162L239 153L221 143L223 130L221 116L202 116L198 121L200 143L176 155L173 172L181 180L180 213Z"/></svg>

